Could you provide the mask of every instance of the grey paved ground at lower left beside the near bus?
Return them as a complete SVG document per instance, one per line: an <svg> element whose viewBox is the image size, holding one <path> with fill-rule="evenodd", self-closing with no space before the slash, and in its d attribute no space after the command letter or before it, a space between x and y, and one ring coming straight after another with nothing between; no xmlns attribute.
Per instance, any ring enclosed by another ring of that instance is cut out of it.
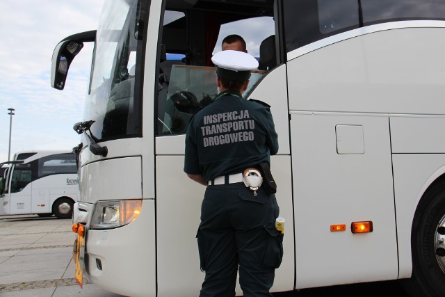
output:
<svg viewBox="0 0 445 297"><path fill-rule="evenodd" d="M0 216L1 297L118 297L74 280L72 220Z"/></svg>

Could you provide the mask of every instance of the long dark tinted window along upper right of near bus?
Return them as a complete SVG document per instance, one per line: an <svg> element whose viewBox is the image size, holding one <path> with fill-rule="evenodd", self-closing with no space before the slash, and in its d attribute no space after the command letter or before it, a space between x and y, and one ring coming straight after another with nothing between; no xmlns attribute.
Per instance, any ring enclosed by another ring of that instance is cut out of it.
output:
<svg viewBox="0 0 445 297"><path fill-rule="evenodd" d="M287 52L360 26L445 20L442 0L284 0L283 5Z"/></svg>

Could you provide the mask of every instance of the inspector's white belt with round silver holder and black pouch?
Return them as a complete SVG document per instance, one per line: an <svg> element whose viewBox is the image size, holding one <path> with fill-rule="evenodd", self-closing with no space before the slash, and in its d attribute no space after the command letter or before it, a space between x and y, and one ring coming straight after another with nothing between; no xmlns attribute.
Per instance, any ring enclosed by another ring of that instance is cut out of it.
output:
<svg viewBox="0 0 445 297"><path fill-rule="evenodd" d="M277 184L270 172L268 163L260 163L256 168L246 168L243 173L235 173L233 175L222 175L209 180L209 186L217 186L221 184L235 184L244 182L245 186L257 195L257 190L261 185L267 193L277 193Z"/></svg>

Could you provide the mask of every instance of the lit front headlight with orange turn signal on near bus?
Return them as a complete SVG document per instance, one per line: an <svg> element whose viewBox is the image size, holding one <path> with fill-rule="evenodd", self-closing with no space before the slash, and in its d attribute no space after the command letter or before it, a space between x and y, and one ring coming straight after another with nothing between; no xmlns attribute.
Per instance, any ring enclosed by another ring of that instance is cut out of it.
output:
<svg viewBox="0 0 445 297"><path fill-rule="evenodd" d="M142 200L98 201L92 213L91 229L122 227L135 220L142 208Z"/></svg>

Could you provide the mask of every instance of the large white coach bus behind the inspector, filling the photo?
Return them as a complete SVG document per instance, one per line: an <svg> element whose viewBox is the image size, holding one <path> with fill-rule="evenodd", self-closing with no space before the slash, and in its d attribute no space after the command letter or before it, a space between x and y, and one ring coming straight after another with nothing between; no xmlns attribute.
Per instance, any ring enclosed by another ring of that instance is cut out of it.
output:
<svg viewBox="0 0 445 297"><path fill-rule="evenodd" d="M260 64L245 98L270 104L280 141L271 168L286 232L273 291L401 279L412 296L443 296L437 0L105 1L97 31L65 38L52 60L63 89L83 42L95 42L74 127L79 282L86 273L126 296L198 295L204 187L183 172L184 133L216 95L210 58L227 25L263 40L243 36Z"/></svg>

